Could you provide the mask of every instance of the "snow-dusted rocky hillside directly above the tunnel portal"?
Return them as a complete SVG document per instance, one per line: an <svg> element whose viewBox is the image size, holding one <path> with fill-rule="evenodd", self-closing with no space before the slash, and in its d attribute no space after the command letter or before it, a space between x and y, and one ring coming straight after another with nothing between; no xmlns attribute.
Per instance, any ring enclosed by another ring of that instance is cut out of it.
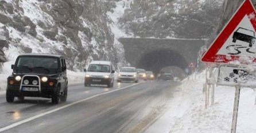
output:
<svg viewBox="0 0 256 133"><path fill-rule="evenodd" d="M222 2L133 1L119 22L135 37L208 38L218 25Z"/></svg>

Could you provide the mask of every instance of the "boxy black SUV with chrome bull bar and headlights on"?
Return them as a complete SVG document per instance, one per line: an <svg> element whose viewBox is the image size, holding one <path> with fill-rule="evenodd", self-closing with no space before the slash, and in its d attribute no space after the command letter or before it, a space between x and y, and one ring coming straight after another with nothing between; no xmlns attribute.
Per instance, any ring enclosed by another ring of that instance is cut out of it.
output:
<svg viewBox="0 0 256 133"><path fill-rule="evenodd" d="M52 98L53 104L66 101L68 78L65 59L54 54L22 54L11 65L7 78L6 101L25 96Z"/></svg>

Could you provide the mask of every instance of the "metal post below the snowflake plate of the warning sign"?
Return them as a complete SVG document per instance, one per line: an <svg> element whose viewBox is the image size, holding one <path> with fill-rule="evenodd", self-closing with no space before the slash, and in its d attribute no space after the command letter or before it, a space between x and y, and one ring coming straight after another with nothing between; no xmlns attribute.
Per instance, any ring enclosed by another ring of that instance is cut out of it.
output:
<svg viewBox="0 0 256 133"><path fill-rule="evenodd" d="M240 90L241 90L240 86L235 87L235 102L234 102L234 111L233 111L231 133L235 133L235 131L236 131L236 122L237 122L237 116L238 116Z"/></svg>

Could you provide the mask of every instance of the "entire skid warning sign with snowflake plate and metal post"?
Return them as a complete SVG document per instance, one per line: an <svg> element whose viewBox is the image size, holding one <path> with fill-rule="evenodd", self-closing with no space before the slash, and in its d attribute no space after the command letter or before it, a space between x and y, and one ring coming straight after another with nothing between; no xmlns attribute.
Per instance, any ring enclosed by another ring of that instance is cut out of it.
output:
<svg viewBox="0 0 256 133"><path fill-rule="evenodd" d="M241 87L255 87L250 84L254 74L246 70L247 65L256 62L255 31L256 11L251 1L245 0L201 58L203 62L216 64L241 64L219 69L218 84L236 88L231 133L236 132Z"/></svg>

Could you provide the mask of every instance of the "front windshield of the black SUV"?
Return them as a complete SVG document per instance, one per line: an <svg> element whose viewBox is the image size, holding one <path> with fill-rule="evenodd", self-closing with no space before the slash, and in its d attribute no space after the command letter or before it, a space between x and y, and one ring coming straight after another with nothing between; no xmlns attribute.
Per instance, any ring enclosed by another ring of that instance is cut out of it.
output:
<svg viewBox="0 0 256 133"><path fill-rule="evenodd" d="M51 57L20 57L16 70L25 73L56 73L58 60Z"/></svg>

